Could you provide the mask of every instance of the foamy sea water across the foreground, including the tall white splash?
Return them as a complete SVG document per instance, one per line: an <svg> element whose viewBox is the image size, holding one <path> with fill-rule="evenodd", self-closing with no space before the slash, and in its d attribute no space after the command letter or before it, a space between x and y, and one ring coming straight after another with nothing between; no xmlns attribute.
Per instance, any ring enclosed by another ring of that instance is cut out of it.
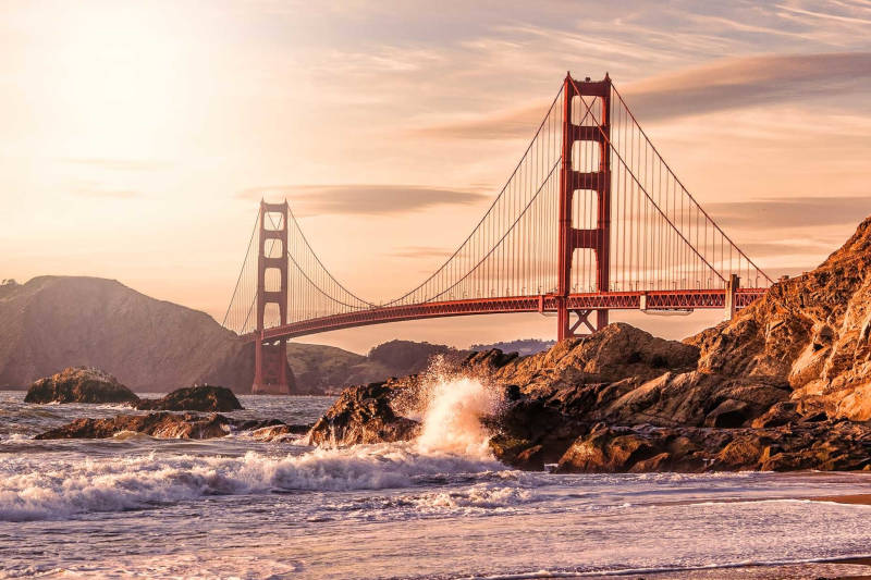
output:
<svg viewBox="0 0 871 580"><path fill-rule="evenodd" d="M479 417L502 400L471 378L432 379L416 441L347 448L37 441L133 411L23 398L0 392L0 578L722 578L871 555L871 508L811 501L869 474L520 472L490 455ZM331 403L241 400L290 423Z"/></svg>

